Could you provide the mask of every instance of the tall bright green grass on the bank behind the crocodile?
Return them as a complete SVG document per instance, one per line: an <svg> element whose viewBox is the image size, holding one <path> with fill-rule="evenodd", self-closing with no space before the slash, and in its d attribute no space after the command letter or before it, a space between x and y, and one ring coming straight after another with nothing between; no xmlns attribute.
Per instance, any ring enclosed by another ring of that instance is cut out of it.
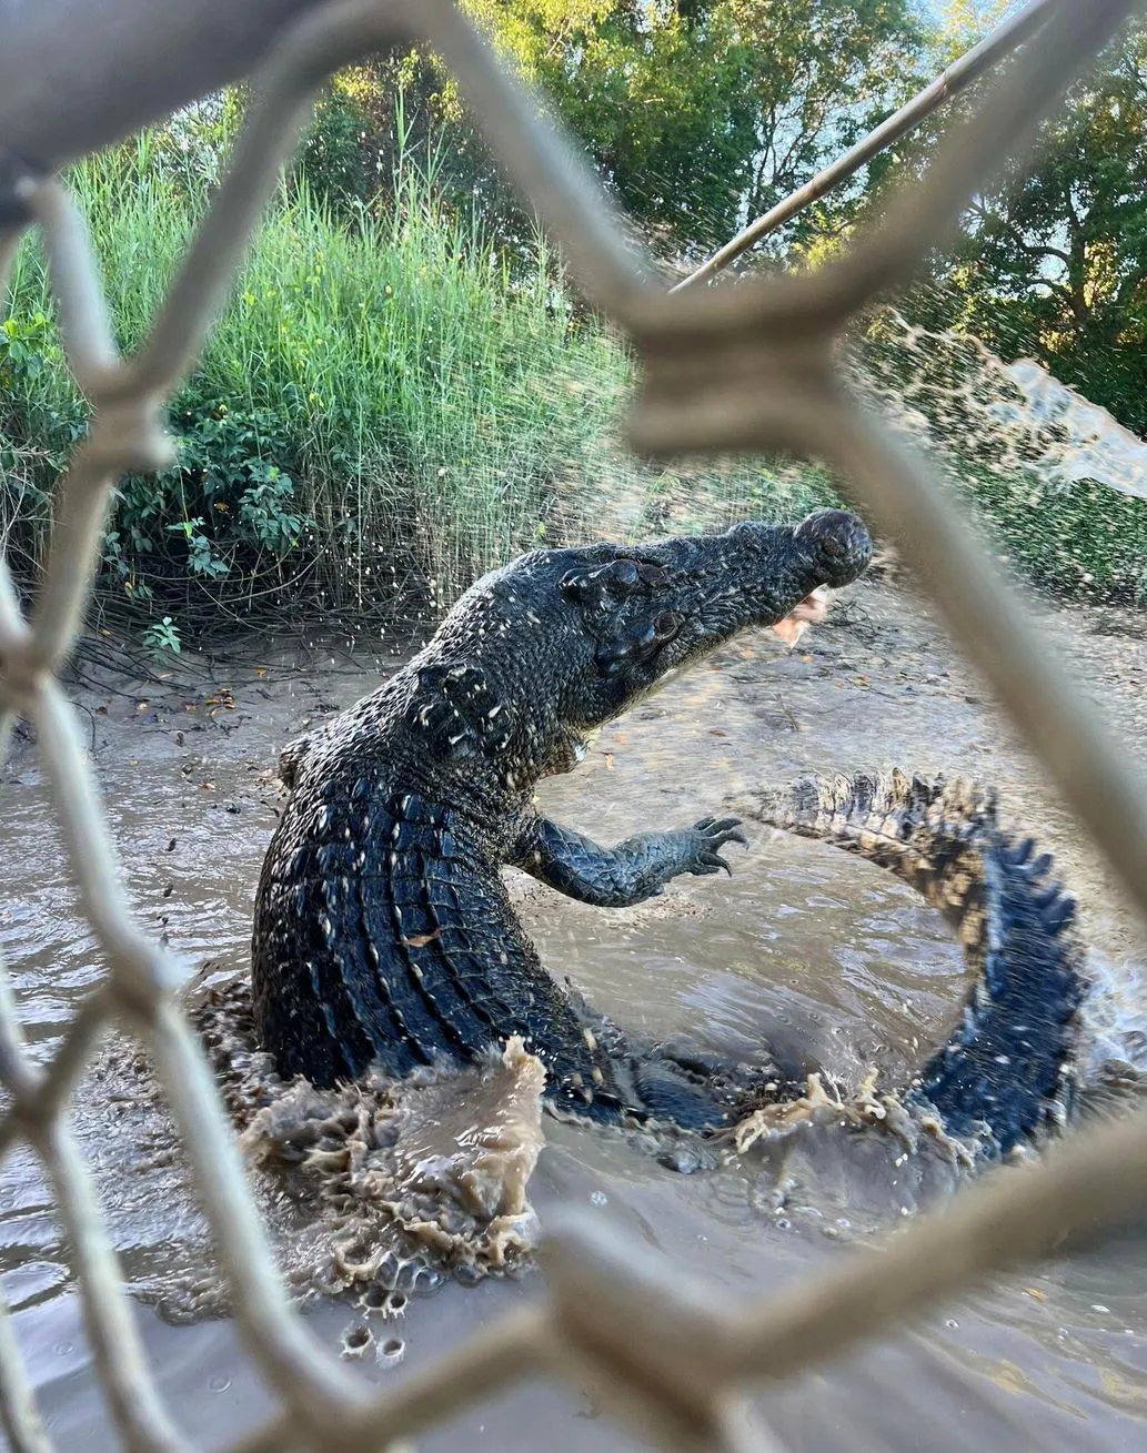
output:
<svg viewBox="0 0 1147 1453"><path fill-rule="evenodd" d="M71 182L132 349L206 187L147 137ZM0 469L9 535L29 558L84 421L52 320L28 246L0 339ZM510 266L480 218L439 202L433 158L404 161L350 215L295 179L173 400L179 466L119 493L105 584L154 610L289 599L369 613L411 591L446 603L541 542L797 514L823 495L798 472L740 465L730 482L632 461L618 439L631 373L612 330L571 308L541 240Z"/></svg>

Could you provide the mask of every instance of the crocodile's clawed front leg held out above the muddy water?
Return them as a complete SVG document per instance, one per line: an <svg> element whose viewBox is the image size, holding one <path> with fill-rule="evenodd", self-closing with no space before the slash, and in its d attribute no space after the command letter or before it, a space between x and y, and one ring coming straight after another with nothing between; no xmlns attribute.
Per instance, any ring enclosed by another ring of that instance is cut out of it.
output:
<svg viewBox="0 0 1147 1453"><path fill-rule="evenodd" d="M749 838L740 818L702 818L672 833L641 833L616 847L599 847L580 833L531 817L507 862L567 898L599 908L628 908L660 894L682 873L701 876L733 869L718 849Z"/></svg>

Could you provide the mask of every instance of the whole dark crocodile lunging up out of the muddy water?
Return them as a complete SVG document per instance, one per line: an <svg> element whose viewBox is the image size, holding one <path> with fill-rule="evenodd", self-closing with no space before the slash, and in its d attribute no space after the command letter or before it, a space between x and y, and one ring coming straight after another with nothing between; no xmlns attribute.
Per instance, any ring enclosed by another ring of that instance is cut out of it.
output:
<svg viewBox="0 0 1147 1453"><path fill-rule="evenodd" d="M605 849L544 817L535 786L741 631L808 618L871 552L843 510L536 549L471 586L378 690L289 744L251 942L254 1023L281 1074L320 1087L369 1067L404 1077L520 1036L551 1107L600 1122L709 1133L762 1096L797 1094L766 1046L734 1065L650 1043L558 984L500 870L600 907L731 872L721 850L747 841L738 817ZM911 1093L994 1151L1034 1135L1070 1078L1082 984L1073 905L1048 865L1005 837L990 801L898 774L760 795L749 815L862 851L949 914L975 987Z"/></svg>

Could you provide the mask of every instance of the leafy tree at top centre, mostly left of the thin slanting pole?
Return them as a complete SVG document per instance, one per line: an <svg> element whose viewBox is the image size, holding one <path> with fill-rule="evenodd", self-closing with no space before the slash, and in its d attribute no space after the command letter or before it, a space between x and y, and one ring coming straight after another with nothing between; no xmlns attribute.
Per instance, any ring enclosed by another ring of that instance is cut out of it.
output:
<svg viewBox="0 0 1147 1453"><path fill-rule="evenodd" d="M910 0L467 0L675 250L724 241L909 93ZM836 193L788 234L848 215Z"/></svg>

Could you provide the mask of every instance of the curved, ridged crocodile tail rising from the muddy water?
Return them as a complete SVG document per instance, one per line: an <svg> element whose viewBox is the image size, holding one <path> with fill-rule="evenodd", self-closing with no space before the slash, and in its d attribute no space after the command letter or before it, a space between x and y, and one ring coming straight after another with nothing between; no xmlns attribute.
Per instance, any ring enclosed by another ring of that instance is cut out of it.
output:
<svg viewBox="0 0 1147 1453"><path fill-rule="evenodd" d="M996 1155L1063 1123L1086 989L1076 904L1048 854L1000 830L994 793L859 773L805 779L737 806L866 857L955 928L974 981L959 1023L913 1082L916 1100Z"/></svg>

